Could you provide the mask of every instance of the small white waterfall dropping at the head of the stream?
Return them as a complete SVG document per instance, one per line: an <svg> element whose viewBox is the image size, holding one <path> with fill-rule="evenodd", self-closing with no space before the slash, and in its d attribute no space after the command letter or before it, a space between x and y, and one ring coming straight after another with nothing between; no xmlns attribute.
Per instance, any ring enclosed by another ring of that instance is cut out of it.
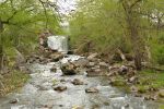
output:
<svg viewBox="0 0 164 109"><path fill-rule="evenodd" d="M49 36L47 40L48 47L62 53L68 52L68 37L67 36Z"/></svg>

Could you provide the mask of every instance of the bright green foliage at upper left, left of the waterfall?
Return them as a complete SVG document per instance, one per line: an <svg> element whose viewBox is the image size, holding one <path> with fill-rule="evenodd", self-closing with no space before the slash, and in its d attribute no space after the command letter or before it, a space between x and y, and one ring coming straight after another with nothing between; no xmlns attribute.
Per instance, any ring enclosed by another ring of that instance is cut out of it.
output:
<svg viewBox="0 0 164 109"><path fill-rule="evenodd" d="M3 47L32 47L45 28L60 33L58 15L46 4L39 0L4 0L0 3Z"/></svg>

